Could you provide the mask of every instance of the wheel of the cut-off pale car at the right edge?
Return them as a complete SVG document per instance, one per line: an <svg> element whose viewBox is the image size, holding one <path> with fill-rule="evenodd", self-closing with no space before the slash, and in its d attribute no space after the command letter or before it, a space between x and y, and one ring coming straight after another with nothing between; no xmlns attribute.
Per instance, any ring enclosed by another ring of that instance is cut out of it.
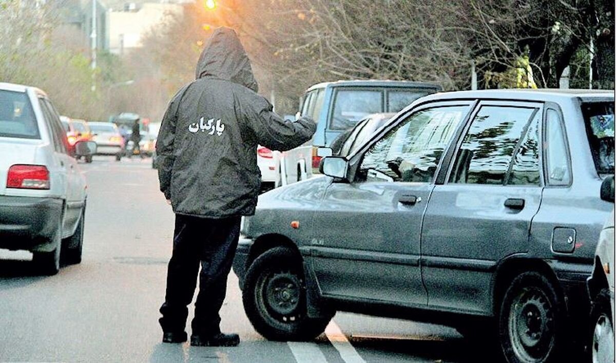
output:
<svg viewBox="0 0 616 363"><path fill-rule="evenodd" d="M590 361L614 362L614 318L610 312L610 293L607 288L594 296L590 318Z"/></svg>

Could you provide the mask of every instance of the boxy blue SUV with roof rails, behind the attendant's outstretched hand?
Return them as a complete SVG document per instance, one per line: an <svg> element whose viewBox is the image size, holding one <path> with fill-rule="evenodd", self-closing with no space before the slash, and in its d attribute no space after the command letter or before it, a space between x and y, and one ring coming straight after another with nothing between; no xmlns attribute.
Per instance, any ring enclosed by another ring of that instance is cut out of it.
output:
<svg viewBox="0 0 616 363"><path fill-rule="evenodd" d="M310 87L300 100L299 112L317 122L314 137L282 153L277 169L280 184L308 179L318 173L318 147L331 143L371 113L396 113L419 97L440 91L437 84L409 81L337 81Z"/></svg>

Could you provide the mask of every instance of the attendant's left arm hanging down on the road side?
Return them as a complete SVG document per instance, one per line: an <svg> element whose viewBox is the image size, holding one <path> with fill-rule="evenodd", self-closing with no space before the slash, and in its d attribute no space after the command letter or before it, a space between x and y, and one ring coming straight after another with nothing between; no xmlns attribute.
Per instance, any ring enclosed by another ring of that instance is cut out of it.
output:
<svg viewBox="0 0 616 363"><path fill-rule="evenodd" d="M156 158L158 164L158 181L160 191L163 192L167 200L171 199L171 173L175 157L173 155L174 142L176 139L177 110L180 100L188 86L180 89L176 96L171 99L167 111L164 113L163 121L156 138Z"/></svg>

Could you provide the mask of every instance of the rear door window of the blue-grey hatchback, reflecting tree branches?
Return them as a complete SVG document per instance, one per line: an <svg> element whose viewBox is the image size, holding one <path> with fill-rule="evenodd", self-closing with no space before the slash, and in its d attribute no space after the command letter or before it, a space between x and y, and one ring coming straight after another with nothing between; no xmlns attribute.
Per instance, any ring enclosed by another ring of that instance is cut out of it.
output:
<svg viewBox="0 0 616 363"><path fill-rule="evenodd" d="M449 182L539 184L538 108L482 106L464 136Z"/></svg>

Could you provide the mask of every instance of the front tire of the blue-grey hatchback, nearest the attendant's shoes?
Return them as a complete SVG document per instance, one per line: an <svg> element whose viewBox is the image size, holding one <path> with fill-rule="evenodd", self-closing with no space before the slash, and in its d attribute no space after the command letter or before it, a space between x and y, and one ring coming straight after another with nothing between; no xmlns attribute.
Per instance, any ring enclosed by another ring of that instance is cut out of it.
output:
<svg viewBox="0 0 616 363"><path fill-rule="evenodd" d="M306 315L302 261L288 248L276 247L257 257L246 272L242 292L246 315L268 340L311 340L331 320Z"/></svg>

